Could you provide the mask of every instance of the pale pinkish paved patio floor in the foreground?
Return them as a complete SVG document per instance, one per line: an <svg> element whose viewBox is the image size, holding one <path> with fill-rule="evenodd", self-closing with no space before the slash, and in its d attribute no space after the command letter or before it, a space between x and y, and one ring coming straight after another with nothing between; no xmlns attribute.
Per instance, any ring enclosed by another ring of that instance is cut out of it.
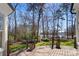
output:
<svg viewBox="0 0 79 59"><path fill-rule="evenodd" d="M24 50L17 56L79 56L79 51L74 48L63 47L62 49L51 49L49 46L36 47L32 52Z"/></svg>

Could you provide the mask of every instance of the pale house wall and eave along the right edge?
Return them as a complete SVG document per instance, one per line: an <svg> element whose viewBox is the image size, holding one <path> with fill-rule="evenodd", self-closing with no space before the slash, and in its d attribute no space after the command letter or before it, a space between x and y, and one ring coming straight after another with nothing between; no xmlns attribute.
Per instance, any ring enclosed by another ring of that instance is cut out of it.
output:
<svg viewBox="0 0 79 59"><path fill-rule="evenodd" d="M78 3L74 4L73 10L76 13L76 22L75 22L76 41L77 41L77 46L78 46L78 49L79 49L79 4Z"/></svg>

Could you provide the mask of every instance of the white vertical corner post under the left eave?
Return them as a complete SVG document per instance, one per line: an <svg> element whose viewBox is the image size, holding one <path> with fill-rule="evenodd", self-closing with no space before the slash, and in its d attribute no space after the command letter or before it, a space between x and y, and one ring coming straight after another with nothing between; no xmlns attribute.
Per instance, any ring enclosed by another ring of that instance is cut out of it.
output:
<svg viewBox="0 0 79 59"><path fill-rule="evenodd" d="M4 49L3 55L7 55L7 40L8 40L8 16L3 18L3 34L2 34L2 48Z"/></svg>

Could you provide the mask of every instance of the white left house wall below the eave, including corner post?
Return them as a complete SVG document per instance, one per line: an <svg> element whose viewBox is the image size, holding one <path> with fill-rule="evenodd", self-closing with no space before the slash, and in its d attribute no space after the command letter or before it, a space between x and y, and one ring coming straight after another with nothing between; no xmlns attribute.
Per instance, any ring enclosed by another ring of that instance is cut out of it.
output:
<svg viewBox="0 0 79 59"><path fill-rule="evenodd" d="M2 29L1 29L1 47L0 55L7 55L7 40L8 40L8 16L0 15L2 17Z"/></svg>

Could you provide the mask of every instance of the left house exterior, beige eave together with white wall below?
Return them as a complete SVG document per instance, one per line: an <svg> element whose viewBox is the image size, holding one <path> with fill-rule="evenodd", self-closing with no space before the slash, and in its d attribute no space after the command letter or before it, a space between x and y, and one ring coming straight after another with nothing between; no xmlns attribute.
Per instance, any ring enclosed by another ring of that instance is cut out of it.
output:
<svg viewBox="0 0 79 59"><path fill-rule="evenodd" d="M2 52L0 52L0 55L7 55L7 41L8 41L8 15L13 10L8 6L7 3L1 3L0 4L0 16L3 17L3 31L2 31L2 47L0 47Z"/></svg>

